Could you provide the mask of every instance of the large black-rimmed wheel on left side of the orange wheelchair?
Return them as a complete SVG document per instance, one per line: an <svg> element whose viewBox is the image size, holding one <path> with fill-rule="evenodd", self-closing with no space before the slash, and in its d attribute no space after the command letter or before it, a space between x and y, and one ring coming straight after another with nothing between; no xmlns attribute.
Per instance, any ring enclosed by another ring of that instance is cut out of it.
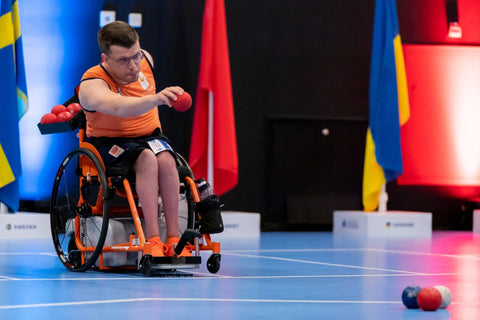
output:
<svg viewBox="0 0 480 320"><path fill-rule="evenodd" d="M108 230L109 193L105 170L85 148L69 153L57 171L50 203L55 250L70 271L90 269Z"/></svg>

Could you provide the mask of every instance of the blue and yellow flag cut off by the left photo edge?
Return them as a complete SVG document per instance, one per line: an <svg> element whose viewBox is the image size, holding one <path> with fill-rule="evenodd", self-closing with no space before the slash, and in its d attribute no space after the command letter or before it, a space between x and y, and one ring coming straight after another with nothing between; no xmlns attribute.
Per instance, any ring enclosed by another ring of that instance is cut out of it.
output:
<svg viewBox="0 0 480 320"><path fill-rule="evenodd" d="M18 121L28 109L22 33L16 0L0 0L0 202L19 207Z"/></svg>

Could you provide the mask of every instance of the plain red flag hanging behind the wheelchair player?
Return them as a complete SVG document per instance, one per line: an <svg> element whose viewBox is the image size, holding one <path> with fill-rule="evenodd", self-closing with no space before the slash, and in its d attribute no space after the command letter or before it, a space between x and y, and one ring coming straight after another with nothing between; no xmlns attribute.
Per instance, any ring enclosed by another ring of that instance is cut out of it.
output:
<svg viewBox="0 0 480 320"><path fill-rule="evenodd" d="M238 182L237 139L224 0L205 2L200 73L195 100L190 166L196 177L206 177L215 193L221 195Z"/></svg>

